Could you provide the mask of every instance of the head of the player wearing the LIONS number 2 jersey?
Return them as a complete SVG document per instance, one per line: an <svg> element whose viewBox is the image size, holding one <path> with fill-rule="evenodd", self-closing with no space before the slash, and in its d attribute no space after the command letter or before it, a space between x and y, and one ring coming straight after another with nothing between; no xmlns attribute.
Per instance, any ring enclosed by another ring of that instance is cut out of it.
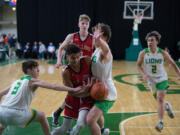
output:
<svg viewBox="0 0 180 135"><path fill-rule="evenodd" d="M157 31L152 31L147 33L145 39L147 41L148 47L156 47L160 43L161 35Z"/></svg>

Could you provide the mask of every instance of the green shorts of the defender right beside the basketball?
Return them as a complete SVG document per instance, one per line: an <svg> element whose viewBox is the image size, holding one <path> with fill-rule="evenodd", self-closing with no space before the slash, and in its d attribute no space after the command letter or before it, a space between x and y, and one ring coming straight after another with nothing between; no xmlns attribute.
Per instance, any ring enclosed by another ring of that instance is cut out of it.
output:
<svg viewBox="0 0 180 135"><path fill-rule="evenodd" d="M103 101L97 101L95 102L95 106L98 107L103 113L107 113L111 107L114 105L115 101L108 101L108 100L103 100Z"/></svg>

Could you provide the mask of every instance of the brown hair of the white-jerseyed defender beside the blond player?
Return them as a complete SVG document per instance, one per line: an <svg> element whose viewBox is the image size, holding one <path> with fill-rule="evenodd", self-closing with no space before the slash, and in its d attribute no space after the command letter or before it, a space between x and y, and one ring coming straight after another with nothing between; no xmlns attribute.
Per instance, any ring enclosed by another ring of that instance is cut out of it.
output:
<svg viewBox="0 0 180 135"><path fill-rule="evenodd" d="M103 36L107 38L107 42L111 39L111 28L109 25L104 23L99 23L101 27L101 32L103 32Z"/></svg>

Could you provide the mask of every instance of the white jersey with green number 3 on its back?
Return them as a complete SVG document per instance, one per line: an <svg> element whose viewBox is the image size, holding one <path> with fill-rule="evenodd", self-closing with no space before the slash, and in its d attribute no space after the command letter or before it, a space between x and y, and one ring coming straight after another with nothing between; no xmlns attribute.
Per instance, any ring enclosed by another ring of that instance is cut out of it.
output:
<svg viewBox="0 0 180 135"><path fill-rule="evenodd" d="M27 109L34 97L34 92L29 89L28 83L31 76L24 76L16 80L3 100L1 106L15 109Z"/></svg>

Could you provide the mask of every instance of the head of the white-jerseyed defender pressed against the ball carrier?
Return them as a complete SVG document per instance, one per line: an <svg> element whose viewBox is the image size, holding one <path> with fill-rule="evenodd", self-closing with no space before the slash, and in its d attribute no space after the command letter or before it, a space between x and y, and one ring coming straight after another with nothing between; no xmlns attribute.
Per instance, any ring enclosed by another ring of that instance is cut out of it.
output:
<svg viewBox="0 0 180 135"><path fill-rule="evenodd" d="M111 39L111 28L109 25L104 24L104 23L98 23L96 26L92 28L92 32L95 31L95 29L100 29L100 31L103 33L102 38L106 41L109 42Z"/></svg>

